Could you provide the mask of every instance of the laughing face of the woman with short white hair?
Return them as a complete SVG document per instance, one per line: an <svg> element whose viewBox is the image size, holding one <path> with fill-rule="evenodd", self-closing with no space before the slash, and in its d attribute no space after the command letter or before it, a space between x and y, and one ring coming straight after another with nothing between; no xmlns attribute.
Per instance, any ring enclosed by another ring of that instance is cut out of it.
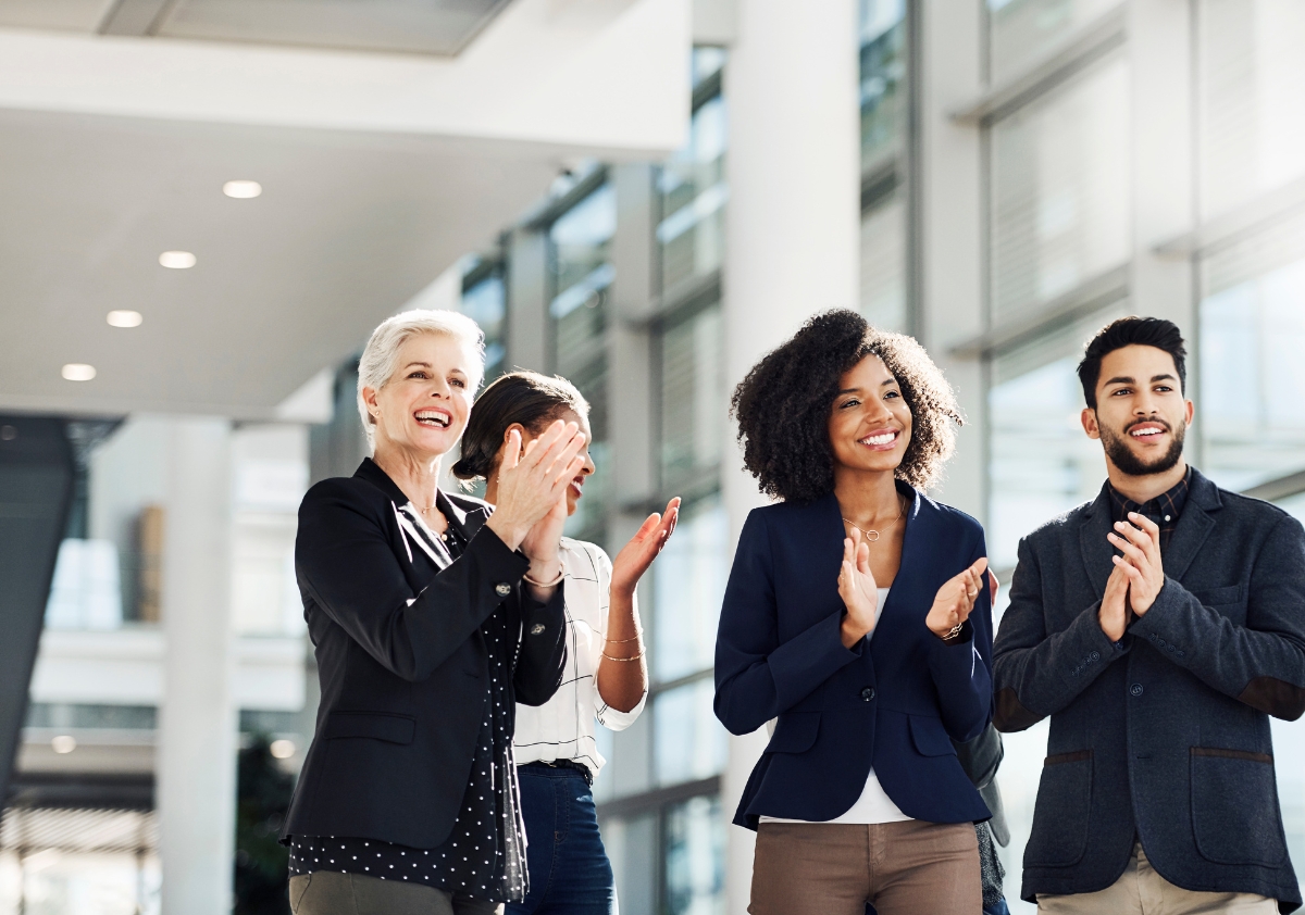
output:
<svg viewBox="0 0 1305 915"><path fill-rule="evenodd" d="M448 454L467 428L478 357L448 334L414 334L399 347L394 374L363 388L376 420L376 452L403 451L418 460Z"/></svg>

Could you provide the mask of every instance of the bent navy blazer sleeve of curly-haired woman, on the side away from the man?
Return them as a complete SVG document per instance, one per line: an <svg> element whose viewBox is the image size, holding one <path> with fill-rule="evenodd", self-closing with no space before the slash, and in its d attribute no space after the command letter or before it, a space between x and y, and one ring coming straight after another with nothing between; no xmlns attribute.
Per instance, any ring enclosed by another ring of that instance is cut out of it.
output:
<svg viewBox="0 0 1305 915"><path fill-rule="evenodd" d="M843 645L843 613L833 613L780 644L770 534L760 511L748 515L726 585L716 630L715 713L732 734L750 734L810 695L861 656Z"/></svg>

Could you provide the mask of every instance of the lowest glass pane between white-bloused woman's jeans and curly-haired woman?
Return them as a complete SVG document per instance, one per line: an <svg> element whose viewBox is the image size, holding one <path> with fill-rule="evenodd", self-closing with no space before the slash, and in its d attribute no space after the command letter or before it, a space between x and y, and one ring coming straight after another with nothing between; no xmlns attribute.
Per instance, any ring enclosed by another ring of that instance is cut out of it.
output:
<svg viewBox="0 0 1305 915"><path fill-rule="evenodd" d="M724 915L726 824L716 795L666 811L666 905L669 915Z"/></svg>

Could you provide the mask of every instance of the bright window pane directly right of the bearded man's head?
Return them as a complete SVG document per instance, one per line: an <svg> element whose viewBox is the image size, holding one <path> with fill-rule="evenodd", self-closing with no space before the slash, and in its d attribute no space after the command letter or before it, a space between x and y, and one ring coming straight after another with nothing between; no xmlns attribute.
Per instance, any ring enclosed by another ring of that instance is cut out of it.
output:
<svg viewBox="0 0 1305 915"><path fill-rule="evenodd" d="M1305 216L1201 265L1202 471L1240 490L1305 467Z"/></svg>

